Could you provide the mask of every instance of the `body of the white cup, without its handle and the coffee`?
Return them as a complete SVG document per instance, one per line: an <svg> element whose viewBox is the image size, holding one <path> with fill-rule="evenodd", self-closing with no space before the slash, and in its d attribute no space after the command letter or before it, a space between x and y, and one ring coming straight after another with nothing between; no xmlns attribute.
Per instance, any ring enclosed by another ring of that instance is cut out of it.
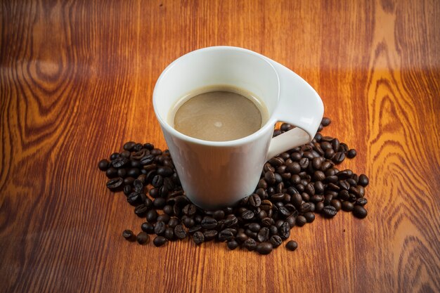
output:
<svg viewBox="0 0 440 293"><path fill-rule="evenodd" d="M183 96L207 86L233 86L253 93L268 110L268 121L245 138L202 141L181 134L169 112ZM153 93L155 114L186 196L213 209L250 195L266 162L278 104L279 79L263 56L242 48L212 47L188 53L170 64Z"/></svg>

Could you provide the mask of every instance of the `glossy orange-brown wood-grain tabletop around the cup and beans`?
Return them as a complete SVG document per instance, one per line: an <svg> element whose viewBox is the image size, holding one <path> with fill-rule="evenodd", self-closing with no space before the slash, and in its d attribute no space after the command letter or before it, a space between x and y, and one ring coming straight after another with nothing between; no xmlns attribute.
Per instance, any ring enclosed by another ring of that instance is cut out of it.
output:
<svg viewBox="0 0 440 293"><path fill-rule="evenodd" d="M0 292L440 292L440 4L1 1ZM105 188L124 141L166 148L153 87L183 53L250 48L320 93L369 215L293 228L296 252L125 241Z"/></svg>

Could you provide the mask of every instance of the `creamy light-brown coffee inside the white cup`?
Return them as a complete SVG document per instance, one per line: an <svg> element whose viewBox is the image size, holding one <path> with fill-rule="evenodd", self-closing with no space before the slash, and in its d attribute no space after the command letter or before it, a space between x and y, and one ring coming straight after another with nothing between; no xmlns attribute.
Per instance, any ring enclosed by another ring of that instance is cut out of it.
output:
<svg viewBox="0 0 440 293"><path fill-rule="evenodd" d="M267 119L266 105L254 93L226 85L197 89L178 100L169 113L174 129L204 141L249 136Z"/></svg>

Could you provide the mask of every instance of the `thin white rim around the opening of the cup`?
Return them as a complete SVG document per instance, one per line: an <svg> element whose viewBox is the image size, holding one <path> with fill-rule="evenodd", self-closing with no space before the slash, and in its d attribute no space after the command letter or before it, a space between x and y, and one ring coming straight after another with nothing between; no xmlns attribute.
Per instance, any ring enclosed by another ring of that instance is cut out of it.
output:
<svg viewBox="0 0 440 293"><path fill-rule="evenodd" d="M278 120L274 117L274 114L276 113L276 107L275 107L275 110L273 110L271 115L268 117L267 122L263 126L261 126L260 129L255 131L253 134L250 134L250 135L242 137L242 138L234 139L232 141L206 141L206 140L203 140L200 138L194 138L192 136L182 134L181 132L174 129L174 127L169 125L169 123L166 121L166 119L163 119L162 116L159 113L157 113L157 110L156 110L157 109L157 99L156 99L156 94L155 94L156 93L156 86L157 86L157 84L159 84L162 81L162 79L167 74L167 72L169 70L171 70L172 67L174 67L174 65L177 62L179 62L179 60L181 60L181 58L186 58L187 56L193 55L193 54L198 53L200 51L219 51L219 50L241 51L241 52L245 52L245 53L251 54L253 56L256 56L256 57L260 58L261 60L264 60L272 68L273 73L276 74L276 79L278 82L277 100L279 100L280 77L278 76L278 72L276 71L275 67L271 63L271 60L266 58L265 56L263 56L257 52L251 51L247 48L241 48L241 47L236 47L236 46L210 46L210 47L200 48L195 51L190 51L190 52L184 54L183 56L180 56L176 60L174 60L172 63L170 63L162 71L159 78L157 79L157 82L155 84L155 88L153 90L153 109L155 111L155 116L157 117L157 120L159 120L162 127L164 127L170 134L172 134L173 136L176 136L177 138L179 138L183 141L188 141L190 143L195 143L198 145L209 145L209 146L214 146L214 147L230 147L230 146L235 146L235 145L242 145L242 144L249 143L250 141L254 141L255 139L259 138L259 136L262 136L263 134L266 133L266 131L268 131L268 128L273 129L276 122L278 122Z"/></svg>

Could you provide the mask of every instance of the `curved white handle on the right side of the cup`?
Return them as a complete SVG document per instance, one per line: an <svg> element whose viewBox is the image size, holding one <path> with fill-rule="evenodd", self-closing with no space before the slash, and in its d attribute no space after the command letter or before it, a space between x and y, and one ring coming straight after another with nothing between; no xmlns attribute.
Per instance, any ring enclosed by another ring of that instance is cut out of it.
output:
<svg viewBox="0 0 440 293"><path fill-rule="evenodd" d="M296 128L272 138L266 159L309 143L324 114L323 101L310 84L287 67L269 61L278 72L280 81L279 103L273 117Z"/></svg>

